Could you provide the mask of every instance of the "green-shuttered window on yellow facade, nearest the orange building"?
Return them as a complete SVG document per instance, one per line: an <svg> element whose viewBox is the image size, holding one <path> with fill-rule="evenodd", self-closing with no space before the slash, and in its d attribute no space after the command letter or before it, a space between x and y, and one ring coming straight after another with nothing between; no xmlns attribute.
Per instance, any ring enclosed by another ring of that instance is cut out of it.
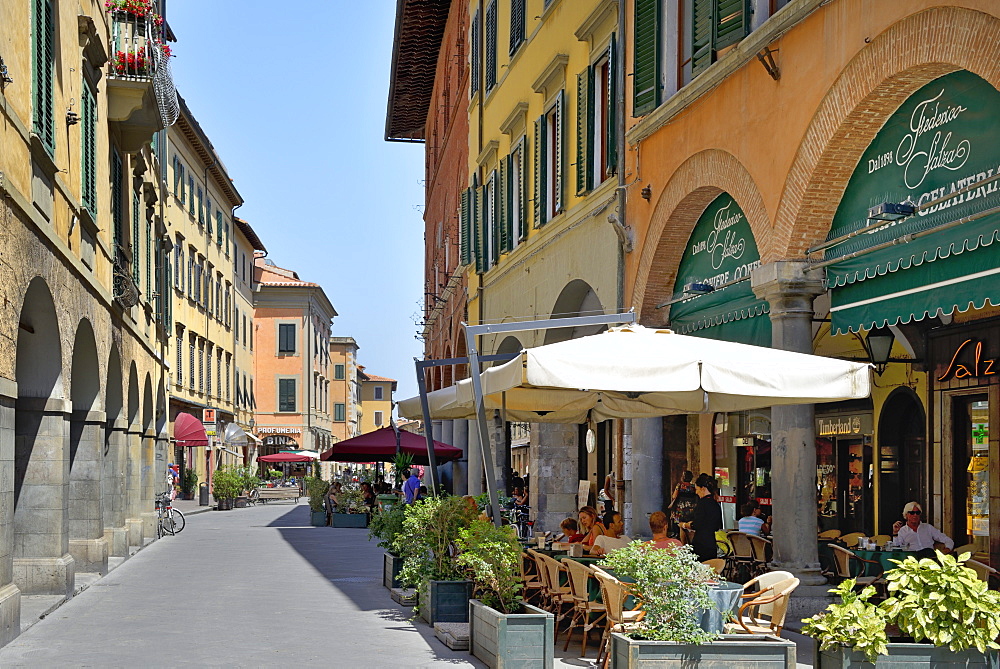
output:
<svg viewBox="0 0 1000 669"><path fill-rule="evenodd" d="M583 195L614 173L615 41L593 65L577 75L576 194Z"/></svg>

